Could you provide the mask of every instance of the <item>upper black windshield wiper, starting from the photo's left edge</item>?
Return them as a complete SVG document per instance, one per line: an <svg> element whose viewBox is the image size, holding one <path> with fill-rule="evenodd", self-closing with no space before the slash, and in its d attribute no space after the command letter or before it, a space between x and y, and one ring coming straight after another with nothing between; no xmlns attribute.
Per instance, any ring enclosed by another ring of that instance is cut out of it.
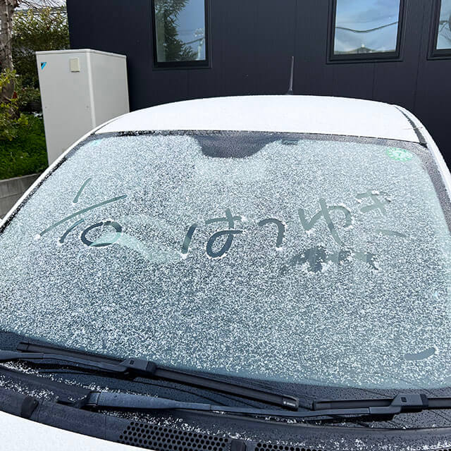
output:
<svg viewBox="0 0 451 451"><path fill-rule="evenodd" d="M155 362L144 359L116 359L115 357L100 354L88 354L77 350L66 350L50 345L35 345L29 342L20 342L18 351L0 350L0 362L23 361L35 362L41 360L59 360L70 364L88 366L93 369L109 373L124 374L128 376L142 376L146 378L166 380L182 383L198 388L214 390L216 392L236 395L251 400L258 400L273 404L285 409L296 410L299 407L297 397L280 395L266 390L249 387L244 384L220 381L206 376L197 376L185 371L161 368Z"/></svg>

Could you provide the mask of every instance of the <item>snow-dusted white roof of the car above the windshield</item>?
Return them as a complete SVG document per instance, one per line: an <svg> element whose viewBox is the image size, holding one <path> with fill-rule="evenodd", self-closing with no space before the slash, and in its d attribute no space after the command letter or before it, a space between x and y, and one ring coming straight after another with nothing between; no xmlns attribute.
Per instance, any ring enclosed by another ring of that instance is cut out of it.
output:
<svg viewBox="0 0 451 451"><path fill-rule="evenodd" d="M419 142L397 106L323 96L215 97L152 106L106 123L97 133L243 130L322 133Z"/></svg>

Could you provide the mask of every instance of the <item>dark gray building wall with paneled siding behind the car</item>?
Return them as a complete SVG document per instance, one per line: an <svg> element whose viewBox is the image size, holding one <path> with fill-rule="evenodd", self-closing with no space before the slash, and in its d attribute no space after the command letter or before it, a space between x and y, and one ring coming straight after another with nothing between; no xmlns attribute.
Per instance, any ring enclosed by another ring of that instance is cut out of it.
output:
<svg viewBox="0 0 451 451"><path fill-rule="evenodd" d="M128 57L130 107L238 94L386 101L414 112L451 166L451 59L428 60L434 0L406 0L402 61L326 63L329 0L210 0L211 68L153 67L150 0L67 0L70 42Z"/></svg>

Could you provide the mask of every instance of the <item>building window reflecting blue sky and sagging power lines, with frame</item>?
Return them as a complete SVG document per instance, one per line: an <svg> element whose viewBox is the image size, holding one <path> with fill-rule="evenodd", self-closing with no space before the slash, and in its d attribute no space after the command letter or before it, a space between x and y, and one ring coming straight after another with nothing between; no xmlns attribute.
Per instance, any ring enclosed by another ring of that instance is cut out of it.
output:
<svg viewBox="0 0 451 451"><path fill-rule="evenodd" d="M403 0L333 0L330 61L400 56Z"/></svg>

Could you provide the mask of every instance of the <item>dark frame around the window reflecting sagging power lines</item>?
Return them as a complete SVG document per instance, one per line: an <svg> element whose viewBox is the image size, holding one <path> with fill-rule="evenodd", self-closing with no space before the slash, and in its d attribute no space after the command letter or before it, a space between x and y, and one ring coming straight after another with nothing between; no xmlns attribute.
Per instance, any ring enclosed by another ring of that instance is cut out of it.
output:
<svg viewBox="0 0 451 451"><path fill-rule="evenodd" d="M337 18L337 1L330 0L329 3L329 31L328 31L328 51L327 63L376 63L383 61L402 61L402 39L404 37L404 6L407 4L405 0L400 0L400 11L398 12L396 49L395 51L380 51L371 54L340 54L335 55L335 26Z"/></svg>

